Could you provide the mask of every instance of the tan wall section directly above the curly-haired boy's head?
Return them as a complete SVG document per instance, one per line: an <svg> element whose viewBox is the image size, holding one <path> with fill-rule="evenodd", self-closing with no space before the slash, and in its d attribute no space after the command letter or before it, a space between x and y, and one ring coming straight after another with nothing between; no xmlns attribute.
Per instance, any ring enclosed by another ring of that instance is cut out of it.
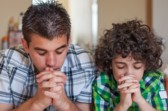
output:
<svg viewBox="0 0 168 111"><path fill-rule="evenodd" d="M138 18L150 25L150 0L98 0L98 35L112 23Z"/></svg>

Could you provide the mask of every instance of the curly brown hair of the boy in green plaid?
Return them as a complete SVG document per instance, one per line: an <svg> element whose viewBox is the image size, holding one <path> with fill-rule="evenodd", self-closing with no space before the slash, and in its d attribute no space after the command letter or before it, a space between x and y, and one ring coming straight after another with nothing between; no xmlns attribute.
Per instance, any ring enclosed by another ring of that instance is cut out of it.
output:
<svg viewBox="0 0 168 111"><path fill-rule="evenodd" d="M161 38L156 37L142 21L135 19L116 23L100 38L95 50L95 63L105 73L111 74L112 59L116 55L126 58L131 54L135 60L145 63L145 71L154 71L162 66L162 48Z"/></svg>

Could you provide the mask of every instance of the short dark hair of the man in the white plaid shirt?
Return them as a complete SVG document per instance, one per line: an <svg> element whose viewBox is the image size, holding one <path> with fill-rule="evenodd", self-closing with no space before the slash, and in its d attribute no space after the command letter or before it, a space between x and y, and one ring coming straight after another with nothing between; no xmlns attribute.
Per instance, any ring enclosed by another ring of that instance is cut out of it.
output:
<svg viewBox="0 0 168 111"><path fill-rule="evenodd" d="M38 34L46 39L66 35L70 37L70 17L62 4L53 1L39 2L31 5L23 16L22 31L29 43L31 34Z"/></svg>

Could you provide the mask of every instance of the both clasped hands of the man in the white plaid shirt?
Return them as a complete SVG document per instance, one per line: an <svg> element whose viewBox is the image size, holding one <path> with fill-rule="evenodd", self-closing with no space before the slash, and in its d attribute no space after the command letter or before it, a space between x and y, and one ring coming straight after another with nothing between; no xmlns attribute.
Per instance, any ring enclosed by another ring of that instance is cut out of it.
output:
<svg viewBox="0 0 168 111"><path fill-rule="evenodd" d="M53 104L56 109L66 108L68 98L64 91L66 76L60 71L46 68L37 74L38 90L35 101L43 110Z"/></svg>

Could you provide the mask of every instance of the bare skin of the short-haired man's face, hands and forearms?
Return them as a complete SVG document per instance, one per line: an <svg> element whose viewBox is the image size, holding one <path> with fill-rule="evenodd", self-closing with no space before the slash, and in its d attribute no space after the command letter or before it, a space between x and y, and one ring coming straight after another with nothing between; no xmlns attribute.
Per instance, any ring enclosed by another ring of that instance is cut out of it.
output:
<svg viewBox="0 0 168 111"><path fill-rule="evenodd" d="M64 90L67 78L60 72L60 68L66 58L69 43L70 40L67 40L65 35L48 40L32 34L29 45L24 39L22 40L24 49L37 70L38 90L33 98L15 110L43 111L53 104L59 111L91 111L91 104L73 103ZM0 104L0 111L13 111L11 109L12 105Z"/></svg>

